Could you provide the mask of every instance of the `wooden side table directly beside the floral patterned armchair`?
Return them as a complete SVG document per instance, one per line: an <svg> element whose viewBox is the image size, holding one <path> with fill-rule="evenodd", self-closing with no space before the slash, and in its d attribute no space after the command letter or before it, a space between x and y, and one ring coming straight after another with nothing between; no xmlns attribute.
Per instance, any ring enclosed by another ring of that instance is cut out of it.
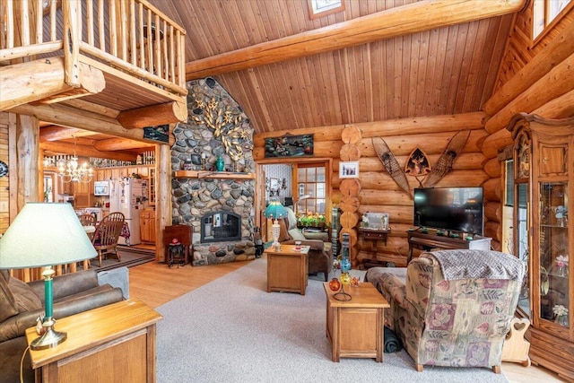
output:
<svg viewBox="0 0 574 383"><path fill-rule="evenodd" d="M332 360L375 358L383 361L385 309L390 305L372 283L345 286L352 300L335 300L329 283L326 292L326 336L331 341Z"/></svg>

